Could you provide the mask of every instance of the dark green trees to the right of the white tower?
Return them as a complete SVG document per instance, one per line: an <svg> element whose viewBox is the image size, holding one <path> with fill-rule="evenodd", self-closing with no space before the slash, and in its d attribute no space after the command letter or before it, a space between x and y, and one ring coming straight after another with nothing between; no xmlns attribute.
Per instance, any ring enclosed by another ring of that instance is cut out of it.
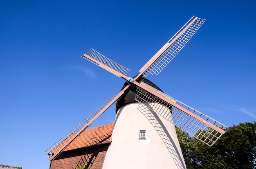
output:
<svg viewBox="0 0 256 169"><path fill-rule="evenodd" d="M212 147L176 132L188 169L256 169L256 122L229 127Z"/></svg>

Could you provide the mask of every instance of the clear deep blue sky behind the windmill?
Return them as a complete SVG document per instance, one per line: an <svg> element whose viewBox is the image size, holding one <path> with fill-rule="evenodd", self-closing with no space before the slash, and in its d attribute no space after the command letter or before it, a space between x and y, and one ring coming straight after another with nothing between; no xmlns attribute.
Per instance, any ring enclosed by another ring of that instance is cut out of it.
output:
<svg viewBox="0 0 256 169"><path fill-rule="evenodd" d="M148 79L227 126L256 121L256 1L0 1L0 164L49 168L45 150L119 92L81 57L94 48L130 77L193 15L207 19ZM115 106L92 127L115 120Z"/></svg>

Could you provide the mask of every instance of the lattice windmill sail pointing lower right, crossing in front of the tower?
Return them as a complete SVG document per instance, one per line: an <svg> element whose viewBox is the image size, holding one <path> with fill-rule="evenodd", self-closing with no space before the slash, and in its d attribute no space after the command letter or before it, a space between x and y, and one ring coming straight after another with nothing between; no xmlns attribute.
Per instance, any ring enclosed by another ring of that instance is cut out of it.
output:
<svg viewBox="0 0 256 169"><path fill-rule="evenodd" d="M227 126L222 123L152 88L146 83L141 82L141 84L164 97L165 101L152 94L152 92L148 92L139 87L136 90L135 99L146 105L149 109L158 112L159 115L174 123L177 127L180 127L194 138L212 146L225 133L224 129L226 129ZM159 105L165 105L172 113L169 114L166 112L166 109L163 109L163 107Z"/></svg>

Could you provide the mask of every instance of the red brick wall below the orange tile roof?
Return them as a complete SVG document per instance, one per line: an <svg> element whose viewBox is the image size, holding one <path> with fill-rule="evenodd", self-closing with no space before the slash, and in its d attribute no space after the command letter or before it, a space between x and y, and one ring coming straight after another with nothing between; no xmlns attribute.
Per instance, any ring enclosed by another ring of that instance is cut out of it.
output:
<svg viewBox="0 0 256 169"><path fill-rule="evenodd" d="M109 143L105 143L64 151L51 162L50 169L75 169L83 165L87 165L88 169L102 169L108 146Z"/></svg>

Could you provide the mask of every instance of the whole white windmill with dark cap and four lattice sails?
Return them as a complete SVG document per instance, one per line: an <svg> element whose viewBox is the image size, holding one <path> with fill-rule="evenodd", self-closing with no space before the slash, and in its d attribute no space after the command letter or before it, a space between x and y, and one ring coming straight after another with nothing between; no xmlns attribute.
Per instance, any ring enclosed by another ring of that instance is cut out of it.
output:
<svg viewBox="0 0 256 169"><path fill-rule="evenodd" d="M216 143L225 133L225 125L164 94L144 78L148 75L158 75L204 22L204 19L193 16L133 78L126 76L130 71L128 68L115 63L96 50L90 49L85 53L83 58L127 82L116 96L110 97L47 149L49 160L54 160L116 101L117 117L112 143L103 164L104 169L128 169L131 165L141 169L186 168L174 125L209 146Z"/></svg>

